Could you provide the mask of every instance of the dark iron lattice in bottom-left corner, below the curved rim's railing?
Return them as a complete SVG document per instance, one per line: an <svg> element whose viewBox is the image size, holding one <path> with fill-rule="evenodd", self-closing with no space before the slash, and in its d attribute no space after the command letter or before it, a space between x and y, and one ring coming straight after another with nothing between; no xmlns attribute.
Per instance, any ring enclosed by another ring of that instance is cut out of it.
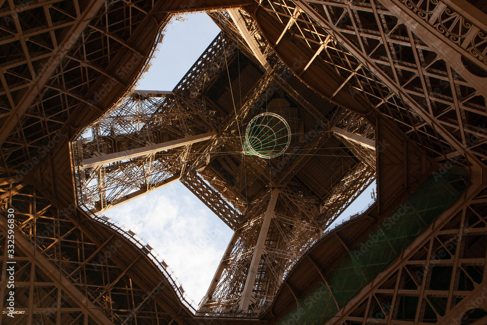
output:
<svg viewBox="0 0 487 325"><path fill-rule="evenodd" d="M7 207L15 210L15 277L21 285L16 288L17 303L27 306L19 309L24 313L14 321L122 324L137 320L144 324L159 319L187 324L181 315L187 317L190 312L180 305L185 296L178 296L180 285L169 276L172 271L164 272L167 265L162 259L151 259L151 248L134 233L110 224L108 218L100 219L108 226L104 227L74 204L63 206L46 197L48 191L25 185L14 192L14 185L3 183L1 189L9 194L2 203L2 215ZM2 220L2 241L6 241L6 221ZM2 297L5 288L1 288ZM181 308L186 311L181 313ZM2 324L11 324L6 315L0 317Z"/></svg>

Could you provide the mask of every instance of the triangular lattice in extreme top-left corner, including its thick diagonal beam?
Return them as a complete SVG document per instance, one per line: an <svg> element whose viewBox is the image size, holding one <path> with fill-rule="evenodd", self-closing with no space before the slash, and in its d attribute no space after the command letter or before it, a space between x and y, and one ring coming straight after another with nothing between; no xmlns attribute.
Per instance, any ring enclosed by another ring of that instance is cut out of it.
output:
<svg viewBox="0 0 487 325"><path fill-rule="evenodd" d="M75 1L70 12L64 12L61 8L67 7L66 2L71 1L54 2L54 6L52 2L40 6L29 4L19 7L10 6L9 11L2 13L8 25L8 29L3 31L10 36L4 43L14 43L15 41L20 43L20 48L18 45L15 46L17 51L9 51L9 58L6 61L12 60L12 57L21 57L22 60L2 67L1 70L2 95L7 97L11 109L6 114L5 111L2 112L2 115L5 115L2 116L3 127L0 133L0 143L4 143L8 135L14 131L18 123L17 119L31 107L39 90L52 78L62 59L78 42L78 38L98 11L106 5L105 1L96 0L83 3L80 7L78 1ZM44 26L29 26L26 16L33 15L34 12L45 17ZM37 29L42 27L41 31L33 31L35 27ZM44 34L44 40L42 40L42 34ZM15 73L15 70L22 66L26 67L30 73L27 79ZM66 90L66 87L64 89Z"/></svg>

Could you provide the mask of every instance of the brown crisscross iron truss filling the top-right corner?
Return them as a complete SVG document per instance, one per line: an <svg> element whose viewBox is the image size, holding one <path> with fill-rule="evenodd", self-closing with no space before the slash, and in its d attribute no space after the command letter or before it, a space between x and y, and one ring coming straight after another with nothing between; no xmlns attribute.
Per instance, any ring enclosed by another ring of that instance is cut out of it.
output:
<svg viewBox="0 0 487 325"><path fill-rule="evenodd" d="M419 5L413 3L412 7L417 10ZM485 88L479 77L460 66L460 55L472 58L471 54L450 44L453 31L460 30L463 38L483 33L482 24L471 31L459 27L464 21L473 26L468 20L473 18L462 16L465 12L454 12L446 4L428 7L431 23L439 19L435 27L445 19L450 21L445 37L438 35L441 26L431 33L412 29L410 26L424 20L419 14L410 15L411 10L399 1L394 5L385 1L264 1L262 8L279 19L284 27L281 35L293 33L315 53L295 73L304 74L319 57L343 80L340 88L349 95L363 96L370 107L395 120L431 156L485 156ZM439 18L441 15L448 18ZM405 23L412 20L415 23ZM448 47L439 51L428 45L435 42L451 45L458 57L447 55ZM471 49L468 42L462 44ZM333 100L337 91L321 94Z"/></svg>

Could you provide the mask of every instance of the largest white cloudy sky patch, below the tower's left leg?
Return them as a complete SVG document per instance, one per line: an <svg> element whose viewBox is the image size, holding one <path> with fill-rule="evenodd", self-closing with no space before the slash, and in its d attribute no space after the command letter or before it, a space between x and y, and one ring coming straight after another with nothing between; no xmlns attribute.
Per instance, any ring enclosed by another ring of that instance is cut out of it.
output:
<svg viewBox="0 0 487 325"><path fill-rule="evenodd" d="M149 243L197 304L206 294L233 234L179 182L105 214Z"/></svg>

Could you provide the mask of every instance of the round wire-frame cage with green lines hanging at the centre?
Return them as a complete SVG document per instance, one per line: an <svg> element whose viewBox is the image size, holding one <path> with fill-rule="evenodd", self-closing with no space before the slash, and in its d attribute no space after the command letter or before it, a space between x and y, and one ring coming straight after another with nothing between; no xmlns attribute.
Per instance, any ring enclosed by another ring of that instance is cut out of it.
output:
<svg viewBox="0 0 487 325"><path fill-rule="evenodd" d="M244 153L261 158L274 158L284 153L291 142L291 128L274 113L262 113L248 123Z"/></svg>

